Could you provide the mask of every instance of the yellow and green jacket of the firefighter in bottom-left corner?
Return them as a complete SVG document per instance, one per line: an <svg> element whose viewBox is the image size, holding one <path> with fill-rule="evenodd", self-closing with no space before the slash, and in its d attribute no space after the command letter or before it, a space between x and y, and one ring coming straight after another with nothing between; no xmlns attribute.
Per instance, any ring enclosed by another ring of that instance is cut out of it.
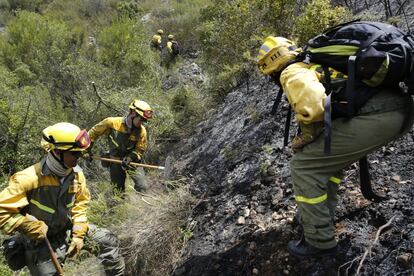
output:
<svg viewBox="0 0 414 276"><path fill-rule="evenodd" d="M70 229L72 224L87 224L86 206L90 194L79 166L61 183L46 159L14 174L9 186L0 193L0 229L12 233L30 214L44 221L53 236Z"/></svg>

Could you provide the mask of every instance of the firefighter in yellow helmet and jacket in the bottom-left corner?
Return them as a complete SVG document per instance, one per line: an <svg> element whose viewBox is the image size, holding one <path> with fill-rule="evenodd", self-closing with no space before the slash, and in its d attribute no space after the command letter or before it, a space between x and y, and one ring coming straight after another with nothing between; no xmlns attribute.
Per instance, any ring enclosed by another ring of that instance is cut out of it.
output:
<svg viewBox="0 0 414 276"><path fill-rule="evenodd" d="M26 265L32 275L55 275L45 237L63 263L66 256L79 255L88 230L88 235L99 247L104 245L100 236L110 235L105 229L89 225L86 216L90 195L85 176L77 164L82 152L90 145L86 130L63 122L45 128L42 134L41 145L47 155L39 163L14 174L9 186L0 193L0 229L6 234L19 232L8 244L22 245L24 253L15 258L19 258L21 265ZM68 232L71 233L69 247L66 243ZM106 248L98 254L111 252L109 260L98 256L107 274L122 275L124 263L117 240L103 247ZM5 255L9 261L7 249ZM114 273L116 270L119 273Z"/></svg>

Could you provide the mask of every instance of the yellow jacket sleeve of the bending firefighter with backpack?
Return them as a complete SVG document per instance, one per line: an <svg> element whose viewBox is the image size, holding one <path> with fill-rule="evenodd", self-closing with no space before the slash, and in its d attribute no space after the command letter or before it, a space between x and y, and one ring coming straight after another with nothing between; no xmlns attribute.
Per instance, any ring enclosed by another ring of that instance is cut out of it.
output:
<svg viewBox="0 0 414 276"><path fill-rule="evenodd" d="M305 124L323 121L325 87L321 83L322 74L315 64L297 62L289 65L280 75L280 83L296 120Z"/></svg>

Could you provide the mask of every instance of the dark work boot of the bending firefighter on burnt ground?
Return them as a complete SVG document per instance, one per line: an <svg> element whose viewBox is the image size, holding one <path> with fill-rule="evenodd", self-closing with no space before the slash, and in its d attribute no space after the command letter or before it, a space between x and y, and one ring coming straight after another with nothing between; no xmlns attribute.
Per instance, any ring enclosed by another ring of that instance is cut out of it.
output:
<svg viewBox="0 0 414 276"><path fill-rule="evenodd" d="M337 251L337 247L338 246L335 246L329 249L317 248L307 243L305 239L288 242L289 253L298 258L322 257L322 256L335 255Z"/></svg>

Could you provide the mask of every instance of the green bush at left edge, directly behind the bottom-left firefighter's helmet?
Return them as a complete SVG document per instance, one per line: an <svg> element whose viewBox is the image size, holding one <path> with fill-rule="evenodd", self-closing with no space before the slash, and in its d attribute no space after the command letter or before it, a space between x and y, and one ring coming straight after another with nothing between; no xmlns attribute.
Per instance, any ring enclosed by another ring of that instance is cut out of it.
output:
<svg viewBox="0 0 414 276"><path fill-rule="evenodd" d="M39 160L44 153L41 131L65 121L65 115L42 86L8 87L6 91L0 96L0 167L9 174Z"/></svg>

